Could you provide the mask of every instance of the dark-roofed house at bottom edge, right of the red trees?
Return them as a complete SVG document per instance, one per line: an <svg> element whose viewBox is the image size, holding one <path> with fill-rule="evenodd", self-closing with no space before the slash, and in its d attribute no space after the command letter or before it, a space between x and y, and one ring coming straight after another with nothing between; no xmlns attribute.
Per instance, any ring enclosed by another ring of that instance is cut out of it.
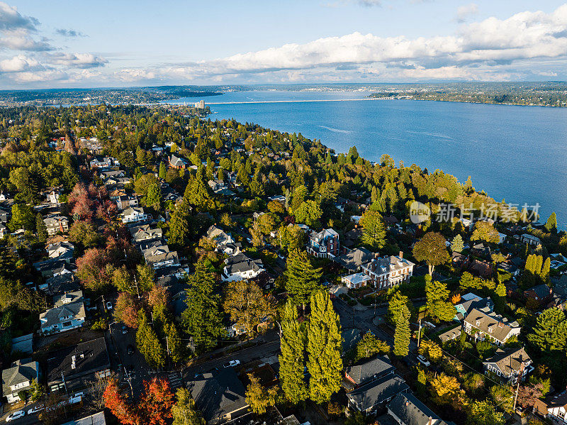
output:
<svg viewBox="0 0 567 425"><path fill-rule="evenodd" d="M235 370L213 370L187 382L207 424L223 424L247 412L246 390Z"/></svg>

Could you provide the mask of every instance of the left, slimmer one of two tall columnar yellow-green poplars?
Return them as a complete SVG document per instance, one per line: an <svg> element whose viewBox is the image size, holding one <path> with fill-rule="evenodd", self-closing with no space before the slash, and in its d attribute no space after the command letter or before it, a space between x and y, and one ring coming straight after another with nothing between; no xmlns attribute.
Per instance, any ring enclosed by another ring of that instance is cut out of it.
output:
<svg viewBox="0 0 567 425"><path fill-rule="evenodd" d="M281 389L292 404L307 398L305 384L305 329L298 322L297 307L288 301L281 320L281 355L279 373Z"/></svg>

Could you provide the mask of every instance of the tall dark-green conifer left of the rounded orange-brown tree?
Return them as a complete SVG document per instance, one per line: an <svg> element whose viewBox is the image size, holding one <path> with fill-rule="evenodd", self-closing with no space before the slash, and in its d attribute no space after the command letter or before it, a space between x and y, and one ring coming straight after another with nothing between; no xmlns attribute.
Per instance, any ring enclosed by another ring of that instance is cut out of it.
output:
<svg viewBox="0 0 567 425"><path fill-rule="evenodd" d="M187 279L187 308L181 314L186 333L193 338L196 351L203 353L217 345L225 336L220 295L215 294L215 275L203 261L195 265L195 272Z"/></svg>

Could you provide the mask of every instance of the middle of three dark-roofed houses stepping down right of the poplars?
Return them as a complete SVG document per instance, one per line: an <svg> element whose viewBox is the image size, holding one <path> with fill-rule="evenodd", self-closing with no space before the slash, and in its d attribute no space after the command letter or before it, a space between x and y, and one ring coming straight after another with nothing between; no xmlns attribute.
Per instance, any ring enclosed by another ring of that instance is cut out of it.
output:
<svg viewBox="0 0 567 425"><path fill-rule="evenodd" d="M378 409L396 394L407 392L409 389L402 377L390 374L347 393L347 398L351 409L364 414L376 414Z"/></svg>

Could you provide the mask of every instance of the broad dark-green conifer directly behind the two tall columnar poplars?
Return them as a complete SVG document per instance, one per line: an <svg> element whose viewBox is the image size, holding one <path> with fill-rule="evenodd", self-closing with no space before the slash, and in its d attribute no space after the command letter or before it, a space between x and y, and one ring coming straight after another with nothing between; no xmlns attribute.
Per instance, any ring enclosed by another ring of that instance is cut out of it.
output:
<svg viewBox="0 0 567 425"><path fill-rule="evenodd" d="M308 253L292 250L289 253L286 272L286 290L293 303L301 305L305 313L311 295L321 289L322 272L311 264Z"/></svg>

